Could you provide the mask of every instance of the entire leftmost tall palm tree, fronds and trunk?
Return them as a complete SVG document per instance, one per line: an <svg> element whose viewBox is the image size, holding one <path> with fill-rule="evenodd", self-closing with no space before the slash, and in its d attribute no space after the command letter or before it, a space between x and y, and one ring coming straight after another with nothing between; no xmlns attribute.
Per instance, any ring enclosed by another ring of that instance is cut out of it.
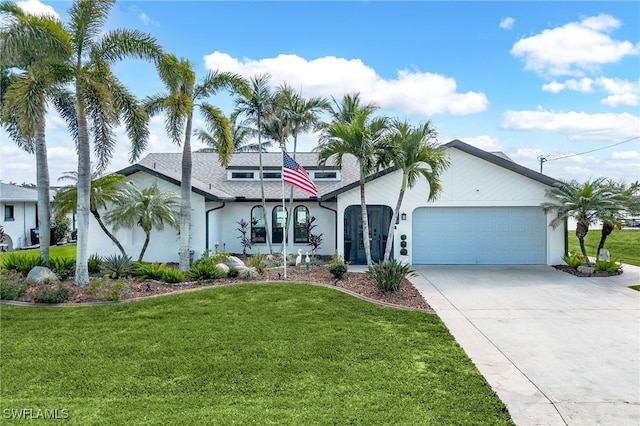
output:
<svg viewBox="0 0 640 426"><path fill-rule="evenodd" d="M8 21L0 34L4 80L0 84L0 123L18 146L35 152L40 257L48 261L51 204L45 114L47 101L60 96L65 81L61 65L71 53L70 39L56 18L27 15L15 4L0 3L0 16Z"/></svg>

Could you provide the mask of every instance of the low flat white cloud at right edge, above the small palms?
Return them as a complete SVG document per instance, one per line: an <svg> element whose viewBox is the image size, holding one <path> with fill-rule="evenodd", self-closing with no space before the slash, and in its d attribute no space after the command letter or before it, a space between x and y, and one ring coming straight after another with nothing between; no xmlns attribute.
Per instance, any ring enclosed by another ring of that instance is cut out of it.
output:
<svg viewBox="0 0 640 426"><path fill-rule="evenodd" d="M638 135L640 118L629 114L586 112L506 111L501 129L542 130L565 135L569 140L620 142Z"/></svg>

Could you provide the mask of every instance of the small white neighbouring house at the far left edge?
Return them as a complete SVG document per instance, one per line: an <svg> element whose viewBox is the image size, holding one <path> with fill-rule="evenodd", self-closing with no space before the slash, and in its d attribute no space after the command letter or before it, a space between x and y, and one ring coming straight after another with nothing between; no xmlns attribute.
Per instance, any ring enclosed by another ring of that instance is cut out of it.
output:
<svg viewBox="0 0 640 426"><path fill-rule="evenodd" d="M0 214L6 233L5 249L37 244L38 190L0 182Z"/></svg>

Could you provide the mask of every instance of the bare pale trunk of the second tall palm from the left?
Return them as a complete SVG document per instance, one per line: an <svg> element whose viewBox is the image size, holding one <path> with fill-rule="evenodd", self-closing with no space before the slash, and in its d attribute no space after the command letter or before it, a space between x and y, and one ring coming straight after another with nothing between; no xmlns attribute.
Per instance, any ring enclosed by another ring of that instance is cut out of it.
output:
<svg viewBox="0 0 640 426"><path fill-rule="evenodd" d="M74 284L85 285L89 282L88 242L89 242L89 209L91 198L91 146L87 129L87 114L81 95L81 88L76 86L76 112L78 114L78 237L76 248L76 274Z"/></svg>

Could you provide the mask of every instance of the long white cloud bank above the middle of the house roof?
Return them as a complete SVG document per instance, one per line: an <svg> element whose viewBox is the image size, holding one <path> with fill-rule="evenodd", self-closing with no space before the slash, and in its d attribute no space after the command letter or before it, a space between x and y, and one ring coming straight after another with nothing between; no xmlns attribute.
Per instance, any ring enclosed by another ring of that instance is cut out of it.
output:
<svg viewBox="0 0 640 426"><path fill-rule="evenodd" d="M360 92L363 100L373 101L383 109L429 117L433 114L474 114L487 109L484 93L457 91L451 77L418 70L399 70L397 78L384 79L359 59L334 56L308 61L297 55L238 60L226 53L214 52L204 57L209 70L236 72L245 77L268 73L271 83L287 82L301 87L305 96L339 98L345 93Z"/></svg>

